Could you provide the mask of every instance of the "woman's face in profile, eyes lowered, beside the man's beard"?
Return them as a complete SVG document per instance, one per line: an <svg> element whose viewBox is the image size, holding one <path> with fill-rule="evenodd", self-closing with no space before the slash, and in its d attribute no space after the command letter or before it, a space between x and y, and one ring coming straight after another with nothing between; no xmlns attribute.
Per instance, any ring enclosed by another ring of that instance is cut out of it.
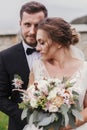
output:
<svg viewBox="0 0 87 130"><path fill-rule="evenodd" d="M42 59L52 59L57 51L57 43L54 43L49 37L46 31L39 29L37 31L37 46L36 50L40 52Z"/></svg>

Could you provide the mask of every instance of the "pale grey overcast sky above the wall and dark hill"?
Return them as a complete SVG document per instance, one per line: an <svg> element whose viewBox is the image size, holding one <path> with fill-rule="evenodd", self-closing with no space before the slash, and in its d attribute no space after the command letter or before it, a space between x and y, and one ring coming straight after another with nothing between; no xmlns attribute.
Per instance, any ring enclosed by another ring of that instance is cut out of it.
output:
<svg viewBox="0 0 87 130"><path fill-rule="evenodd" d="M19 29L21 5L31 0L0 0L0 30ZM87 15L87 0L35 0L43 3L49 16L62 17L68 22Z"/></svg>

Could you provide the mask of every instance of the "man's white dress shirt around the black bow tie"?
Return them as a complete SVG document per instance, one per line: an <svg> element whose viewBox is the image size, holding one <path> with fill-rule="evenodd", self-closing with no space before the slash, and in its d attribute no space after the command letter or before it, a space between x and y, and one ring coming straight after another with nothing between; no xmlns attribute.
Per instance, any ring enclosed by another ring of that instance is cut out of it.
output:
<svg viewBox="0 0 87 130"><path fill-rule="evenodd" d="M24 51L25 51L25 55L26 55L26 58L27 58L27 62L28 62L29 68L31 70L33 62L40 57L40 54L38 52L33 52L32 54L27 55L26 54L27 48L32 48L32 47L27 45L24 41L23 41L23 47L24 47Z"/></svg>

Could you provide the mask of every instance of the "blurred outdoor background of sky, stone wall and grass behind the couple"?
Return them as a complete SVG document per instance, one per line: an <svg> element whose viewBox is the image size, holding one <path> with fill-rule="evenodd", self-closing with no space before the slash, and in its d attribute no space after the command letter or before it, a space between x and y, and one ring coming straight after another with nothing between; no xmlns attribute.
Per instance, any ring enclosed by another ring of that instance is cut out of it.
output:
<svg viewBox="0 0 87 130"><path fill-rule="evenodd" d="M0 51L20 41L19 11L30 0L0 0ZM35 0L48 9L49 17L62 17L80 34L76 45L87 60L87 0ZM0 130L7 130L8 117L0 112Z"/></svg>

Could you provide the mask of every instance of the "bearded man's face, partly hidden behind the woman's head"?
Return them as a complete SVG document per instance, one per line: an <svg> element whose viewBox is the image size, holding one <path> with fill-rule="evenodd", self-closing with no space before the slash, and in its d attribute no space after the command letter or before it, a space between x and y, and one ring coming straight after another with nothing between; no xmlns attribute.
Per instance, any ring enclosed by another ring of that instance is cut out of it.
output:
<svg viewBox="0 0 87 130"><path fill-rule="evenodd" d="M38 12L33 14L23 13L20 21L21 34L26 44L36 46L36 33L38 23L44 19L44 13Z"/></svg>

